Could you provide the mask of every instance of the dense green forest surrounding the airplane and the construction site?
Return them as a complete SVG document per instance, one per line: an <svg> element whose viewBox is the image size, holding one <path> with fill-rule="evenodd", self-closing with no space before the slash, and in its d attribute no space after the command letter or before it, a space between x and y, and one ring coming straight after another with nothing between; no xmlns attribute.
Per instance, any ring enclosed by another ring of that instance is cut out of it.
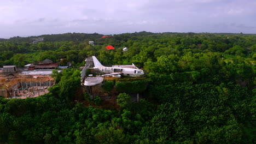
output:
<svg viewBox="0 0 256 144"><path fill-rule="evenodd" d="M0 67L67 58L56 85L38 98L0 99L1 143L255 143L256 35L225 33L66 33L0 41ZM89 45L93 40L95 45ZM112 45L115 50L107 50ZM123 51L127 47L128 51ZM74 103L84 59L146 71L143 99L118 95Z"/></svg>

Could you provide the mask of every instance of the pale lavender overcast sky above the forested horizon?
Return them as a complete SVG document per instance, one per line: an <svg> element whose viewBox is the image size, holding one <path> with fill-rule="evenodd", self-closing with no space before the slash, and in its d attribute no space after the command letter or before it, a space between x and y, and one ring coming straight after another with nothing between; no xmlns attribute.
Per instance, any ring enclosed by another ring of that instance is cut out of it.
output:
<svg viewBox="0 0 256 144"><path fill-rule="evenodd" d="M256 0L0 0L0 38L140 31L256 33Z"/></svg>

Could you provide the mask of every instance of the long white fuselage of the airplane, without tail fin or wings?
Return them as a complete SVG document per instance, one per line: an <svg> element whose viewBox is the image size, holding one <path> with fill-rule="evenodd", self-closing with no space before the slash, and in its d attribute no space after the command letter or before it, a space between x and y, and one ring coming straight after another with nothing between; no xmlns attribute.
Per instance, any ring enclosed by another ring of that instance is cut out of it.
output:
<svg viewBox="0 0 256 144"><path fill-rule="evenodd" d="M140 76L143 75L143 71L140 69L133 69L133 68L121 68L121 67L94 67L94 69L101 71L105 74L112 74L112 73L123 73L122 75L127 76Z"/></svg>

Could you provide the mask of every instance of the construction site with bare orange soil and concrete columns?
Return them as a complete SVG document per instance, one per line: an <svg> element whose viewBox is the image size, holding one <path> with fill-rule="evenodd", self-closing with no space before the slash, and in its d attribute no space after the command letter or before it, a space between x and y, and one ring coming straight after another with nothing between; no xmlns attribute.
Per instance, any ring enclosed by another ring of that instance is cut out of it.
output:
<svg viewBox="0 0 256 144"><path fill-rule="evenodd" d="M0 96L9 98L34 98L48 93L54 85L50 75L0 74Z"/></svg>

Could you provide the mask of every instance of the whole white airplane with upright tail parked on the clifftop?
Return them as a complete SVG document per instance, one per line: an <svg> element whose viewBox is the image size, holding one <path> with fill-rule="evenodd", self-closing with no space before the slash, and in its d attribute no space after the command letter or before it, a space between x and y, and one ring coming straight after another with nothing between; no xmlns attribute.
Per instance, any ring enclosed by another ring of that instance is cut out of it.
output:
<svg viewBox="0 0 256 144"><path fill-rule="evenodd" d="M134 64L132 64L135 68L124 68L122 65L118 65L118 67L104 67L95 56L92 56L94 61L94 69L99 70L106 75L102 76L113 76L113 77L120 77L121 75L127 76L140 76L143 75L143 70L138 69ZM123 65L124 66L124 65Z"/></svg>

